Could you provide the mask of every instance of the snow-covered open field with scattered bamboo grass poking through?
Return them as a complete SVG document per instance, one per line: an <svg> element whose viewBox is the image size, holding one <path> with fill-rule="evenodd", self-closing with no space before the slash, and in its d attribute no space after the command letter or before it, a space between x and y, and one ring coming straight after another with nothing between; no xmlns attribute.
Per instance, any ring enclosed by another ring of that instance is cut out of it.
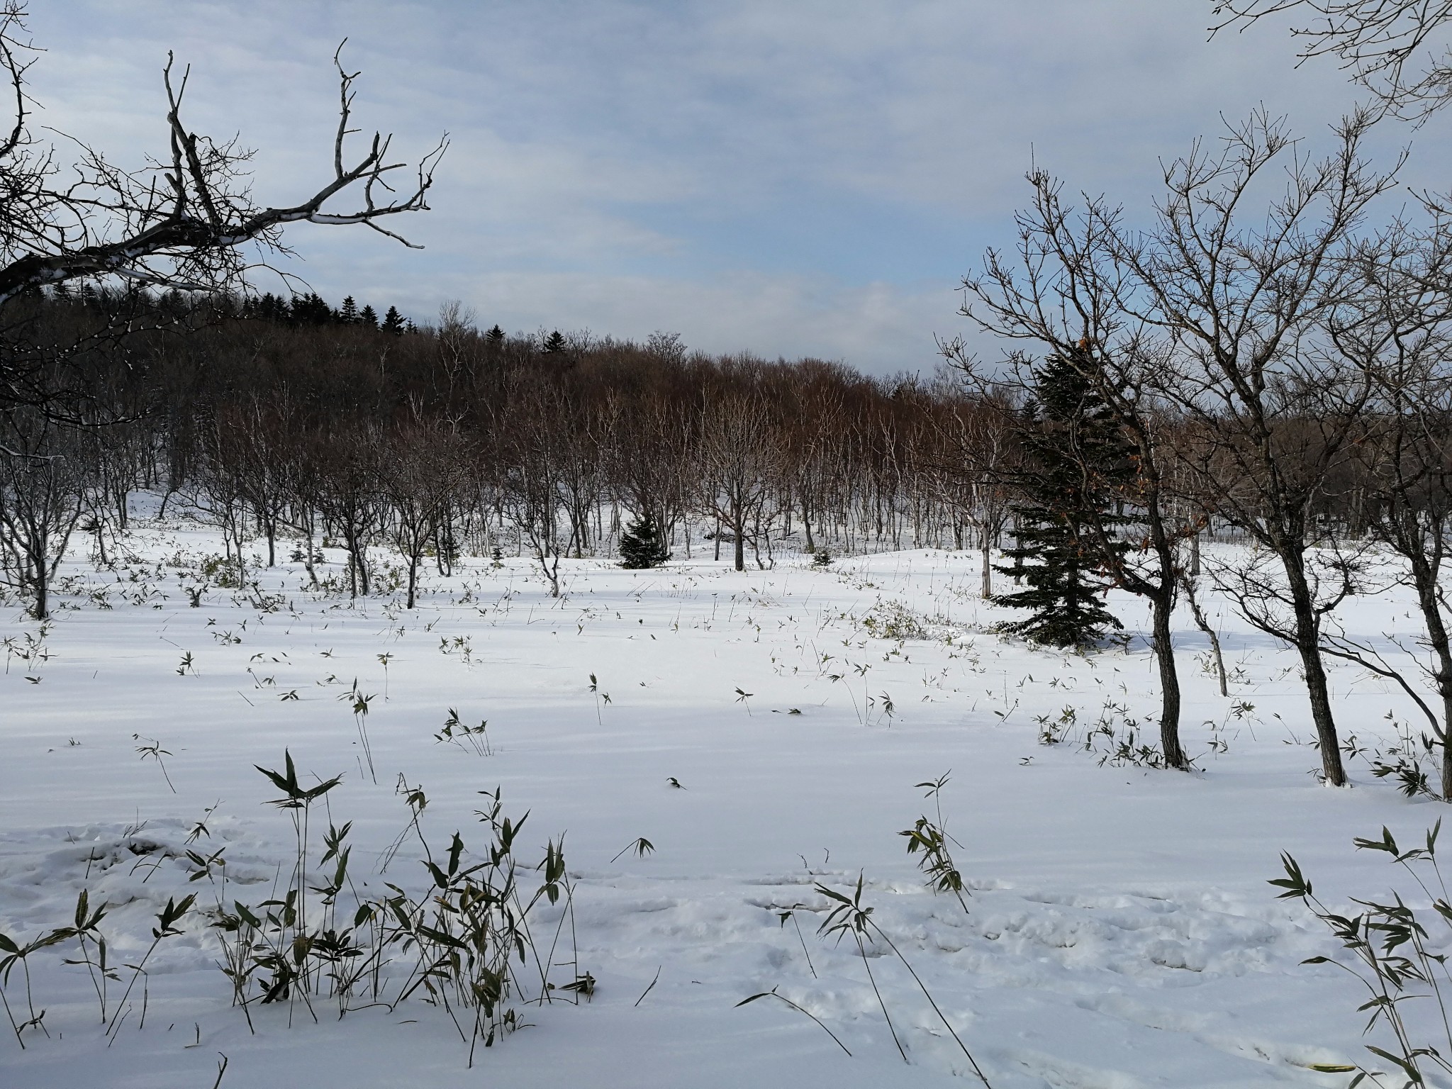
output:
<svg viewBox="0 0 1452 1089"><path fill-rule="evenodd" d="M788 556L746 574L566 560L560 600L527 559L468 559L454 578L430 572L405 611L311 592L296 563L258 572L277 600L234 600L205 572L219 537L184 521L138 521L115 571L96 571L86 543L44 637L15 603L0 619L0 932L20 942L68 925L84 889L91 908L109 903L110 963L135 964L168 897L197 903L119 1012L132 971L116 968L110 1037L86 966L64 963L76 942L32 954L44 1032L28 1029L22 1050L4 1029L7 1089L208 1089L221 1054L225 1089L977 1083L883 942L864 961L851 937L816 934L833 906L816 886L851 896L858 874L871 919L995 1089L1343 1086L1308 1067L1368 1060L1363 996L1333 966L1301 966L1334 942L1266 878L1289 851L1331 905L1382 894L1397 873L1352 838L1388 825L1416 839L1442 813L1374 778L1365 756L1349 761L1353 788L1320 787L1294 655L1218 598L1228 698L1188 614L1180 624L1199 768L1185 775L1104 759L1157 710L1143 639L1082 658L989 635L1002 613L976 597L976 553L829 569ZM340 576L343 553L327 558L322 574ZM1137 601L1114 607L1144 629ZM1385 591L1345 616L1375 637L1414 632L1410 611L1410 595ZM1419 725L1381 680L1340 664L1331 682L1358 746ZM372 697L363 716L340 700L354 690ZM436 739L450 709L486 735ZM1114 741L1089 732L1101 720ZM1041 743L1048 727L1061 743ZM481 1047L472 1069L421 992L393 1008L360 999L341 1021L324 1000L317 1021L298 1000L254 1002L250 1029L202 912L216 876L187 851L225 848L228 903L287 883L289 813L266 804L277 788L254 767L282 770L285 749L303 786L343 777L325 815L318 803L312 858L328 819L353 822L364 897L385 881L428 887L401 781L427 794L420 831L436 855L456 829L485 841L475 810L495 788L505 813L530 815L517 847L530 865L565 833L572 912L544 903L537 928L565 935L555 963L569 964L552 979L588 971L588 1000L558 989L518 1005L527 1028ZM925 887L899 835L937 820L915 784L944 774L967 910ZM653 851L629 849L640 838ZM774 999L738 1008L772 987L819 1024ZM6 995L23 1019L19 968Z"/></svg>

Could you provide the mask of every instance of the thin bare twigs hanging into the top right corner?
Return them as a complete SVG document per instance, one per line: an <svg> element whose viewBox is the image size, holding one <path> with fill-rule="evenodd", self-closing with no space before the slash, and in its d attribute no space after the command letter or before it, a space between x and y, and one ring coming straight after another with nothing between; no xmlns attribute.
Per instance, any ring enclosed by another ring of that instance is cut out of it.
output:
<svg viewBox="0 0 1452 1089"><path fill-rule="evenodd" d="M1452 102L1448 0L1215 0L1211 33L1282 12L1310 17L1291 28L1302 61L1334 57L1391 113L1424 121Z"/></svg>

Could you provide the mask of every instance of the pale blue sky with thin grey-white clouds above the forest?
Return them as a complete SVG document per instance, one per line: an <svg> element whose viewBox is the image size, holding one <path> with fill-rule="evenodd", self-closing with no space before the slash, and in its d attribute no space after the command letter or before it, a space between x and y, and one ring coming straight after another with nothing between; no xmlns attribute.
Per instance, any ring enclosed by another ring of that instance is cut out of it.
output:
<svg viewBox="0 0 1452 1089"><path fill-rule="evenodd" d="M38 123L139 166L166 150L174 51L189 126L237 134L256 199L295 203L331 176L346 38L363 135L409 160L450 147L433 211L391 225L423 250L289 229L283 267L334 305L424 322L459 299L511 333L928 373L935 337L970 333L957 286L1012 245L1031 166L1133 219L1160 163L1225 121L1263 105L1314 147L1353 105L1333 64L1295 67L1284 26L1208 41L1211 6L41 0L29 78ZM1414 141L1407 183L1446 190L1446 123L1378 154Z"/></svg>

